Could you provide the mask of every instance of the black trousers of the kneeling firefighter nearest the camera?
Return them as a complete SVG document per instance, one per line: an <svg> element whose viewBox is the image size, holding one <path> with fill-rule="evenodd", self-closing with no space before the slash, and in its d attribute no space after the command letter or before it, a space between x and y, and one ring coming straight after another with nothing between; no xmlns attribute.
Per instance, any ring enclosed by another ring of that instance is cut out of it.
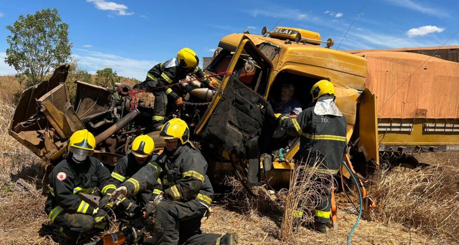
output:
<svg viewBox="0 0 459 245"><path fill-rule="evenodd" d="M201 232L201 218L206 211L207 207L196 200L162 200L156 208L156 244L219 244L220 234Z"/></svg>

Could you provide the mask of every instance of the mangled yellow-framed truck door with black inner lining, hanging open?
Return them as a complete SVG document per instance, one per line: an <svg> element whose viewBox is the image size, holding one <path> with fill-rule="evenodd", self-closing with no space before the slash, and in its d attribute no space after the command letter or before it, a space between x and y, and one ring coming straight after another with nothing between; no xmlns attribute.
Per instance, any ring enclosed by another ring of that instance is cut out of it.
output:
<svg viewBox="0 0 459 245"><path fill-rule="evenodd" d="M277 125L271 105L264 99L272 64L243 36L227 71L233 74L223 77L195 133L202 135L216 154L234 154L256 163L259 169L259 156Z"/></svg>

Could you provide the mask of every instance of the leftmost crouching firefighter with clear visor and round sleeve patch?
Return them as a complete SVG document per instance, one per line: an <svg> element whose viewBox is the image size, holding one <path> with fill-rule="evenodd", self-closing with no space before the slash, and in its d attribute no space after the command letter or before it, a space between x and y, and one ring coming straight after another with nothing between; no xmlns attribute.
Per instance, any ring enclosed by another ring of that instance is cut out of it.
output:
<svg viewBox="0 0 459 245"><path fill-rule="evenodd" d="M45 211L53 224L59 227L59 234L66 238L77 238L94 228L104 229L107 213L99 207L92 207L81 200L78 193L96 194L96 188L108 201L108 195L115 189L110 171L96 158L95 138L88 130L72 134L67 146L67 157L59 162L49 174L49 194Z"/></svg>

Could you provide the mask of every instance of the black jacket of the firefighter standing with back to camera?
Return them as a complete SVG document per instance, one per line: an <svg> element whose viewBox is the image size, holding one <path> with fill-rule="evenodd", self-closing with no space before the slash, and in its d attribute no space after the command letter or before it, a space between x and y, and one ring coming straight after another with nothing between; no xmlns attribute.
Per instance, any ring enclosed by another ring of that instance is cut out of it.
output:
<svg viewBox="0 0 459 245"><path fill-rule="evenodd" d="M338 173L347 152L347 121L344 115L316 115L313 106L304 109L296 119L282 115L279 124L288 134L301 136L299 161L310 166L317 161L316 171L324 172L322 174Z"/></svg>

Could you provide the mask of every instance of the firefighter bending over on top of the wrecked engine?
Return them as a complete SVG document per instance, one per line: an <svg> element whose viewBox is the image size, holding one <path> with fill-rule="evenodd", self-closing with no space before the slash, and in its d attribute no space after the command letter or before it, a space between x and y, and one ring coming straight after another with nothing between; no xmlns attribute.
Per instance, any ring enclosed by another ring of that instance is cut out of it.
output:
<svg viewBox="0 0 459 245"><path fill-rule="evenodd" d="M188 74L195 74L197 78L204 78L205 75L198 66L199 58L190 48L182 48L174 57L168 61L155 65L147 72L145 81L134 86L134 89L152 90L155 96L155 105L153 108L153 129L161 130L164 125L166 115L166 106L169 100L173 100L176 106L183 105L183 99L180 96L179 89L176 86L163 87L166 85L178 83L186 78ZM201 82L209 86L210 79L202 79ZM160 89L155 89L163 87Z"/></svg>

